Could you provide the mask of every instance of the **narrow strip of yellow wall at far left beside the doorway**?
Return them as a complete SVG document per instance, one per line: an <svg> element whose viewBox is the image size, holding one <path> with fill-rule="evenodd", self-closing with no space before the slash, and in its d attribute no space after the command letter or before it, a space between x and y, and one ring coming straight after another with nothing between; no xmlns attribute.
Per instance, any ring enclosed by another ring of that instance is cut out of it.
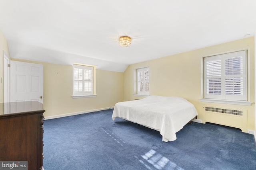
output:
<svg viewBox="0 0 256 170"><path fill-rule="evenodd" d="M4 53L10 57L7 40L0 30L0 103L4 102L4 86L1 81L1 78L4 78Z"/></svg>

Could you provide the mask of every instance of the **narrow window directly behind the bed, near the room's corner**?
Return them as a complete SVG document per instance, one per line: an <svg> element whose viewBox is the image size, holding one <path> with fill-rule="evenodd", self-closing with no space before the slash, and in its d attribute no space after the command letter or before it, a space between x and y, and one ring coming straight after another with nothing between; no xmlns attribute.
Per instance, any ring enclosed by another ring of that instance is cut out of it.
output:
<svg viewBox="0 0 256 170"><path fill-rule="evenodd" d="M149 67L137 69L137 94L149 95Z"/></svg>

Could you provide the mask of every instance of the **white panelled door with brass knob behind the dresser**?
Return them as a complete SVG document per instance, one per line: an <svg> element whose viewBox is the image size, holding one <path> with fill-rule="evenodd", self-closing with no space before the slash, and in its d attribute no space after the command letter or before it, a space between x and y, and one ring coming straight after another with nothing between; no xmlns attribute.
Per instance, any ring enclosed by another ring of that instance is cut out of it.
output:
<svg viewBox="0 0 256 170"><path fill-rule="evenodd" d="M43 103L44 67L42 64L11 61L10 102Z"/></svg>

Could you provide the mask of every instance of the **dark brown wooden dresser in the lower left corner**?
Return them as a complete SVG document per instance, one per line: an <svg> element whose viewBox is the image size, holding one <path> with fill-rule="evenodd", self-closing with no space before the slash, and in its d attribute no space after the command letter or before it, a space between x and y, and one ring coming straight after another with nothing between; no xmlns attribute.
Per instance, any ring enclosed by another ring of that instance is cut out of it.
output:
<svg viewBox="0 0 256 170"><path fill-rule="evenodd" d="M44 111L37 101L0 103L0 161L28 161L28 170L43 170Z"/></svg>

